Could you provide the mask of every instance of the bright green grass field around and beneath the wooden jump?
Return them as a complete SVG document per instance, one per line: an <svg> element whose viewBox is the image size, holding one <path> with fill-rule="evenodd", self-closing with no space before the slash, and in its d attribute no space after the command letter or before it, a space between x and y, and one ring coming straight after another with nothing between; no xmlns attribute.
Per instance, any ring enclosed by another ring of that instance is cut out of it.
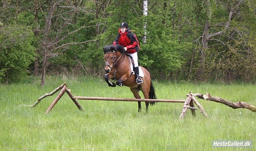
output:
<svg viewBox="0 0 256 151"><path fill-rule="evenodd" d="M133 98L128 87L108 87L101 78L47 77L0 85L0 150L256 150L256 113L233 110L223 104L197 99L210 118L198 110L179 120L183 103L157 103L137 112L136 102L78 100L67 94L49 114L57 96L33 104L40 96L67 82L74 96ZM212 96L256 105L253 84L194 84L153 81L159 99L186 99L186 94ZM142 96L142 95L141 95ZM251 140L252 147L212 147L213 140Z"/></svg>

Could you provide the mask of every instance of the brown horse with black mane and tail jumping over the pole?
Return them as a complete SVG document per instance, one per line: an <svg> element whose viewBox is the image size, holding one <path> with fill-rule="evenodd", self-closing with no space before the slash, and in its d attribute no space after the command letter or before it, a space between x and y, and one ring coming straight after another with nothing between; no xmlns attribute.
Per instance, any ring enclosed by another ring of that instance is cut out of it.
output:
<svg viewBox="0 0 256 151"><path fill-rule="evenodd" d="M104 75L104 79L108 83L108 86L115 87L116 85L125 85L130 87L130 91L133 92L133 96L136 99L141 98L139 91L142 91L145 99L156 99L150 73L145 68L141 67L144 73L144 77L142 77L143 83L137 84L135 75L132 74L132 70L130 68L129 56L124 52L123 46L109 45L103 47L103 51L105 59L105 71L107 73ZM109 81L109 79L117 79L116 84ZM149 102L145 101L145 103L147 112ZM155 102L150 102L150 104L154 105ZM138 101L138 108L138 112L140 112L140 101Z"/></svg>

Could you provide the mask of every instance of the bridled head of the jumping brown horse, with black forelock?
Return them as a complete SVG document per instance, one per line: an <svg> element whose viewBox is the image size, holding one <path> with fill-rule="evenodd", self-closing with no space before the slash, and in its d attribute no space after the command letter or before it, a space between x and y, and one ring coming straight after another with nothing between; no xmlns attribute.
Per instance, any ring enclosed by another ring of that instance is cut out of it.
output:
<svg viewBox="0 0 256 151"><path fill-rule="evenodd" d="M109 73L111 71L111 68L118 61L118 59L116 58L119 58L121 53L124 52L123 46L109 45L109 46L103 47L103 51L104 51L104 59L105 59L105 71Z"/></svg>

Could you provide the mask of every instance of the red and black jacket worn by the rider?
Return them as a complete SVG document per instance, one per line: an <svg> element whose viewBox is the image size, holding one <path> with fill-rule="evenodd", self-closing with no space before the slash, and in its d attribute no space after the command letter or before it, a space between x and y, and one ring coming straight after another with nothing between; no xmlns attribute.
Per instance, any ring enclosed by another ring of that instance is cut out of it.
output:
<svg viewBox="0 0 256 151"><path fill-rule="evenodd" d="M127 47L127 53L135 53L140 49L136 35L132 33L129 29L127 30L127 32L124 33L121 33L121 30L119 29L119 34L117 35L113 44L119 44Z"/></svg>

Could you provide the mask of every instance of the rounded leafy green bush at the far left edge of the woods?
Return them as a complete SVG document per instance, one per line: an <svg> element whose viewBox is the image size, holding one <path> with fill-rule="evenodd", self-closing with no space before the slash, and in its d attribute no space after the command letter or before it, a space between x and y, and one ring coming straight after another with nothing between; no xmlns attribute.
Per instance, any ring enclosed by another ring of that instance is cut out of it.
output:
<svg viewBox="0 0 256 151"><path fill-rule="evenodd" d="M20 22L13 20L14 25L0 28L0 80L7 83L25 77L35 55L31 45L34 34L30 26L25 26L29 19L23 13L18 18Z"/></svg>

